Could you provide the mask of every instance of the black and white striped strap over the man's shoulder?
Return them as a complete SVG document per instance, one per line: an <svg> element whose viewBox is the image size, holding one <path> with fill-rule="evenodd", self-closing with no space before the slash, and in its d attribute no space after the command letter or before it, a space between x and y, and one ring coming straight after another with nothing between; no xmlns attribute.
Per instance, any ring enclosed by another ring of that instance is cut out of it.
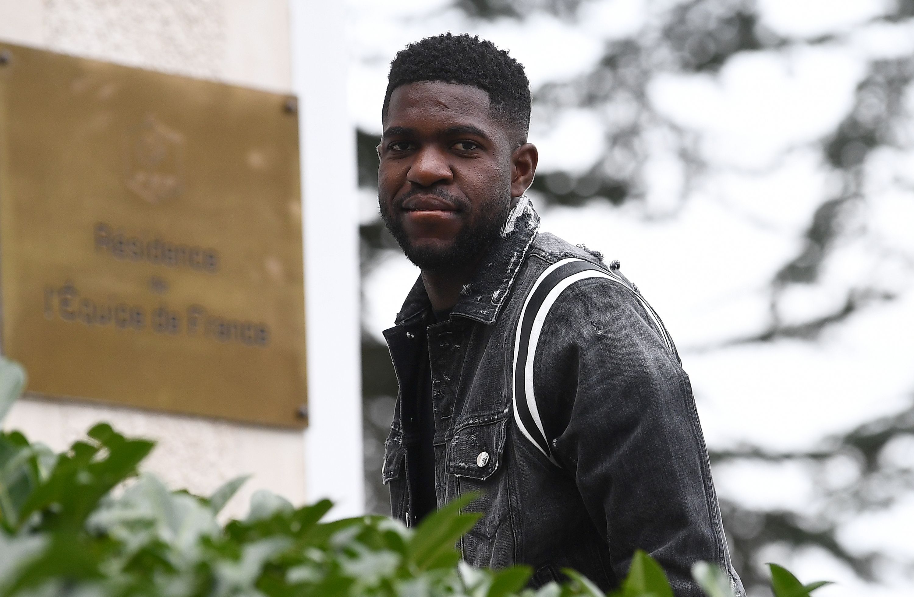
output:
<svg viewBox="0 0 914 597"><path fill-rule="evenodd" d="M514 378L512 382L512 401L517 427L549 461L558 466L552 456L551 446L543 428L543 420L537 406L537 395L533 386L533 365L536 358L539 335L549 310L555 304L559 295L575 282L588 278L605 278L615 284L627 288L642 304L648 317L661 335L666 347L673 349L673 342L666 333L664 324L657 317L654 309L634 292L621 278L607 272L583 259L569 257L549 266L539 275L533 288L526 296L524 307L517 319L514 353Z"/></svg>

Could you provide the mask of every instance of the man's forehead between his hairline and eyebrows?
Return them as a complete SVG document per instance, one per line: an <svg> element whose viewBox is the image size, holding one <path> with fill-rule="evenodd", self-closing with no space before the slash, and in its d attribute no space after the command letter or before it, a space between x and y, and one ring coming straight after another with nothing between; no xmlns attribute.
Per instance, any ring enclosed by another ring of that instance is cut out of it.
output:
<svg viewBox="0 0 914 597"><path fill-rule="evenodd" d="M427 128L461 123L496 126L489 114L489 94L472 85L423 81L394 89L384 126Z"/></svg>

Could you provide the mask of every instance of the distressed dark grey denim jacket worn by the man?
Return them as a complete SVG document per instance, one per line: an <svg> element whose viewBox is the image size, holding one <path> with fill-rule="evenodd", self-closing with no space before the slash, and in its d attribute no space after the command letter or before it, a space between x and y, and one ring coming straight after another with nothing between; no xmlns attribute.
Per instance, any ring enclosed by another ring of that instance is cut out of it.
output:
<svg viewBox="0 0 914 597"><path fill-rule="evenodd" d="M438 504L482 492L467 508L483 517L461 540L464 560L528 564L534 586L569 567L609 590L642 549L677 597L704 595L691 577L698 560L727 571L741 595L691 385L663 324L617 264L537 233L538 221L518 204L449 319L434 318L420 278L384 332L399 381L383 468L393 515L416 522L409 405L428 358ZM519 333L531 288L567 263L588 271L565 278ZM525 366L515 352L529 355Z"/></svg>

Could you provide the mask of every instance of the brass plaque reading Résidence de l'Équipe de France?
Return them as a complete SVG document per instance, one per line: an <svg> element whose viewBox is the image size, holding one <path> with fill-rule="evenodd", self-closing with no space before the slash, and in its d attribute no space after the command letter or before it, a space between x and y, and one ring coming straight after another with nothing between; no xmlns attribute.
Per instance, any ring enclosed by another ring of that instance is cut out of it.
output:
<svg viewBox="0 0 914 597"><path fill-rule="evenodd" d="M289 96L0 44L3 352L38 395L305 424Z"/></svg>

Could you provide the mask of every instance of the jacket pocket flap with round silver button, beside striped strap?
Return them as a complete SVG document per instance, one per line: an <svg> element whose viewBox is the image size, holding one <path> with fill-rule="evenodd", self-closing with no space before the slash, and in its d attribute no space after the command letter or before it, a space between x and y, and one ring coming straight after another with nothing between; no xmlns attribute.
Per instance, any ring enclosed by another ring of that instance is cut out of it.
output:
<svg viewBox="0 0 914 597"><path fill-rule="evenodd" d="M466 424L451 439L445 456L449 475L484 481L492 477L501 464L505 450L505 428L508 419Z"/></svg>

